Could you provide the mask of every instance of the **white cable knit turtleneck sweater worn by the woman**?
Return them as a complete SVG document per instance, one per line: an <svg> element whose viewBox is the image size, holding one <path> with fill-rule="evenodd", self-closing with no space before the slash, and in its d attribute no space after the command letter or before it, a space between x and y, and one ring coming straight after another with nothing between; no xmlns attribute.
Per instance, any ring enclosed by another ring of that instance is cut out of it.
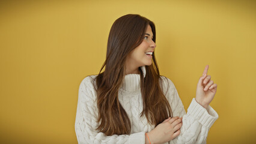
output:
<svg viewBox="0 0 256 144"><path fill-rule="evenodd" d="M145 77L145 67L141 67ZM78 107L76 112L75 131L78 143L145 143L145 133L154 129L145 116L140 116L143 109L139 74L127 74L118 92L118 98L129 116L132 128L130 134L105 136L96 130L97 96L93 79L88 76L79 86ZM161 76L161 79L164 77ZM167 143L206 143L209 128L218 119L218 114L211 106L206 109L192 99L187 113L178 96L177 89L169 79L162 81L163 92L172 109L173 116L182 116L181 133Z"/></svg>

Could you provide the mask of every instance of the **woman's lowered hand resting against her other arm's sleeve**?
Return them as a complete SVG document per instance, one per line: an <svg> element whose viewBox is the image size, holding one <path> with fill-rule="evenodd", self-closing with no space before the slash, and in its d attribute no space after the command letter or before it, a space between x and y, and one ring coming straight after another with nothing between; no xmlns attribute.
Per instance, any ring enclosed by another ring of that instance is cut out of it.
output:
<svg viewBox="0 0 256 144"><path fill-rule="evenodd" d="M175 116L174 118L165 119L165 121L157 125L154 130L148 132L147 135L152 144L169 142L180 134L181 126L182 118Z"/></svg>

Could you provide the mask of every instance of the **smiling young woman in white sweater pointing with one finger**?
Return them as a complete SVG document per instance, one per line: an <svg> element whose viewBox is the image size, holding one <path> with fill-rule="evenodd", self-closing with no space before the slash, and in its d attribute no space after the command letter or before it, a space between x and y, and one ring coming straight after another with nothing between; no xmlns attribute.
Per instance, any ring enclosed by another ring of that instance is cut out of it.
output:
<svg viewBox="0 0 256 144"><path fill-rule="evenodd" d="M206 143L218 119L209 66L186 113L174 83L159 74L155 48L153 22L138 14L115 20L100 73L79 86L78 143Z"/></svg>

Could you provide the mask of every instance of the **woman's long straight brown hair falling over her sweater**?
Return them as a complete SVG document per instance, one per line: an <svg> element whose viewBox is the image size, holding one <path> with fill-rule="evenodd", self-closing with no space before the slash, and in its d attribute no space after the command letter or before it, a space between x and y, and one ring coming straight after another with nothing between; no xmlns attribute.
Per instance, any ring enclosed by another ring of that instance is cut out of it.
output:
<svg viewBox="0 0 256 144"><path fill-rule="evenodd" d="M154 23L138 14L118 18L109 32L106 61L95 79L99 122L97 130L106 136L130 134L130 120L118 100L118 90L125 76L126 57L142 43L148 25L151 26L153 41L156 43ZM145 115L150 124L158 125L169 116L172 117L172 111L159 83L161 79L154 53L152 57L153 63L145 66L145 77L139 68L143 100L141 116ZM101 73L104 67L105 71Z"/></svg>

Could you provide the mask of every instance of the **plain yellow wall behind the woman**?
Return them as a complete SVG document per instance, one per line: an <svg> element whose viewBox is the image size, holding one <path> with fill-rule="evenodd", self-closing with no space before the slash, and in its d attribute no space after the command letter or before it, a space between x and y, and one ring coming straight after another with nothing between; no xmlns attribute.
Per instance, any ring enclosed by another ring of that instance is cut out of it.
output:
<svg viewBox="0 0 256 144"><path fill-rule="evenodd" d="M160 73L187 109L204 67L218 84L207 143L256 143L256 10L243 1L0 3L0 143L77 143L84 77L99 73L115 19L156 24Z"/></svg>

